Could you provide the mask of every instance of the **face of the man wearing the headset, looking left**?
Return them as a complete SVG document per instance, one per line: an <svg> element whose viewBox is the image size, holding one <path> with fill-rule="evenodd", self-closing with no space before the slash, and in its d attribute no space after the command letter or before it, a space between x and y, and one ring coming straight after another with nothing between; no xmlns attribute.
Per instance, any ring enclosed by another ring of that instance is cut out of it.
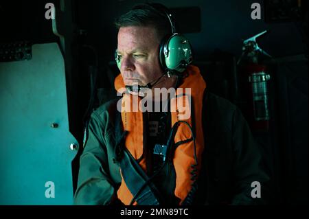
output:
<svg viewBox="0 0 309 219"><path fill-rule="evenodd" d="M117 54L124 84L146 85L163 74L159 64L159 43L153 27L120 27Z"/></svg>

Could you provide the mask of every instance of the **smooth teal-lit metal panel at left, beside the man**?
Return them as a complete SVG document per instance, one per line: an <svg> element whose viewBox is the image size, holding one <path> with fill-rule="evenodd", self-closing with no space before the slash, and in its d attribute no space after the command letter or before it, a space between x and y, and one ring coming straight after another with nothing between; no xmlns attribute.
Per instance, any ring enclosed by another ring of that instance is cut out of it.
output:
<svg viewBox="0 0 309 219"><path fill-rule="evenodd" d="M32 56L0 62L0 205L71 205L70 144L78 141L69 132L65 63L56 43L33 45ZM45 196L48 181L54 198Z"/></svg>

